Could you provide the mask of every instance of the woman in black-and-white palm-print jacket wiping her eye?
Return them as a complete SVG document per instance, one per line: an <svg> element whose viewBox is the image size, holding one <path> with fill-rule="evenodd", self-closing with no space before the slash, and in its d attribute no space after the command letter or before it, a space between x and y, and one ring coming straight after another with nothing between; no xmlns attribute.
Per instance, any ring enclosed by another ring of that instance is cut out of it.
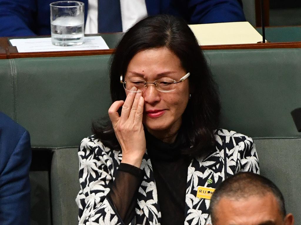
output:
<svg viewBox="0 0 301 225"><path fill-rule="evenodd" d="M219 95L188 25L147 17L110 65L109 120L79 147L79 224L208 224L210 194L259 173L253 140L220 129Z"/></svg>

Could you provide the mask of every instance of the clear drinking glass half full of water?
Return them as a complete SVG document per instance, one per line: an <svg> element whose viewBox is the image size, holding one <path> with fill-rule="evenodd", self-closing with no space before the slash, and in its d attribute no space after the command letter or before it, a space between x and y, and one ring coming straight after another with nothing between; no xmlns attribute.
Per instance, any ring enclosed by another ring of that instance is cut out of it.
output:
<svg viewBox="0 0 301 225"><path fill-rule="evenodd" d="M84 40L84 3L56 1L50 4L51 42L54 45L80 45Z"/></svg>

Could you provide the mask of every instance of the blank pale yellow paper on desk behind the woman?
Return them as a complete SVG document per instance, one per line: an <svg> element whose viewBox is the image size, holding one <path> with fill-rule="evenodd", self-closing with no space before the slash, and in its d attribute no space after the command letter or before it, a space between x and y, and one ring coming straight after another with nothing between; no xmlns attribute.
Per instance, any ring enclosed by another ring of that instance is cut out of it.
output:
<svg viewBox="0 0 301 225"><path fill-rule="evenodd" d="M227 22L189 25L199 45L253 44L262 36L249 22Z"/></svg>

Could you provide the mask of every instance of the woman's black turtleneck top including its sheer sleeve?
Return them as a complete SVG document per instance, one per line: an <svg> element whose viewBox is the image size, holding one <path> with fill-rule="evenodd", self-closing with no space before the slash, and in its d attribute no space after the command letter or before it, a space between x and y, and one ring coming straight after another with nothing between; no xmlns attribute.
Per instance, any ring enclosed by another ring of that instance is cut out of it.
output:
<svg viewBox="0 0 301 225"><path fill-rule="evenodd" d="M181 154L185 144L179 135L172 144L155 138L147 131L145 138L157 187L161 224L183 225L187 170L191 161ZM135 214L138 189L143 176L141 169L124 163L119 165L116 172L108 197L125 224L129 224Z"/></svg>

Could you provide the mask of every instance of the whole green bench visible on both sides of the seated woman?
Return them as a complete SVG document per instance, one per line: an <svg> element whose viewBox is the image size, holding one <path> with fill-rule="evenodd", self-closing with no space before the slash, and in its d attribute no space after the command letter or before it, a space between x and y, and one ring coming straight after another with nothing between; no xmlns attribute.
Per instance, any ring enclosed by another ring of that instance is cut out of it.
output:
<svg viewBox="0 0 301 225"><path fill-rule="evenodd" d="M254 138L261 174L280 187L287 211L293 212L298 225L301 134L290 112L301 105L301 49L208 50L205 55L219 85L220 127ZM52 210L41 202L37 207L35 191L33 218L52 213L53 225L77 223L77 146L91 134L91 121L107 115L109 58L0 60L0 110L29 131L33 149L53 152ZM39 187L42 181L33 178L31 172L32 184ZM49 190L40 190L49 196ZM33 224L42 223L36 219Z"/></svg>

